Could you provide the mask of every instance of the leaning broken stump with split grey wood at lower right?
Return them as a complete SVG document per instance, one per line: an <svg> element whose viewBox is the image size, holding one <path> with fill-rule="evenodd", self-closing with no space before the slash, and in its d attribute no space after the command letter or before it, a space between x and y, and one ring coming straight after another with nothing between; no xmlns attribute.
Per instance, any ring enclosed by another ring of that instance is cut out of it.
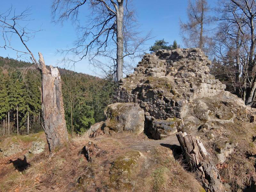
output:
<svg viewBox="0 0 256 192"><path fill-rule="evenodd" d="M204 148L203 143L192 135L187 133L176 134L182 151L186 157L191 170L195 170L204 186L212 192L225 191L220 180L220 174L217 168L212 164L211 157Z"/></svg>

